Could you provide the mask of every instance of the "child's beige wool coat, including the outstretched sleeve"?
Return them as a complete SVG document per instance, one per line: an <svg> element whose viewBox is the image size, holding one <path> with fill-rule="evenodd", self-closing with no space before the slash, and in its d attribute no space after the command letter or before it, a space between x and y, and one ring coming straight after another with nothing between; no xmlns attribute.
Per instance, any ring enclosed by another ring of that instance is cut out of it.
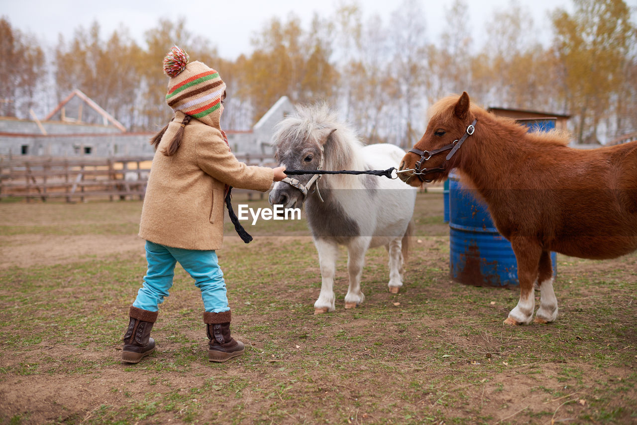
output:
<svg viewBox="0 0 637 425"><path fill-rule="evenodd" d="M221 132L195 118L185 126L176 154L162 154L183 117L175 113L155 152L140 236L168 247L216 250L224 240L224 185L265 192L274 171L237 161Z"/></svg>

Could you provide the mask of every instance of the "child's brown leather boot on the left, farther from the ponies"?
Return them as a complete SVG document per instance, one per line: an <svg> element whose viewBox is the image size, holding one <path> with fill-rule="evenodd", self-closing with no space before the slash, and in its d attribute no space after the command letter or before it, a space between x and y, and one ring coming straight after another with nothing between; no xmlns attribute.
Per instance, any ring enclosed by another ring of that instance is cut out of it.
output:
<svg viewBox="0 0 637 425"><path fill-rule="evenodd" d="M155 351L155 340L150 338L150 329L157 320L159 312L149 312L131 305L131 321L124 335L124 349L122 349L122 361L127 363L140 363L144 356Z"/></svg>

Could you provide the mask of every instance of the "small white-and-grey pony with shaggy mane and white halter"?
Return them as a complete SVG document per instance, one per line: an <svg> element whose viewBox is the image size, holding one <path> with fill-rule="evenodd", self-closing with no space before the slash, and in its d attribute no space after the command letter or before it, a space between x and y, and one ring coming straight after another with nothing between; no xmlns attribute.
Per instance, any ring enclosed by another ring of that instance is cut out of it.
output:
<svg viewBox="0 0 637 425"><path fill-rule="evenodd" d="M362 146L354 131L326 104L296 108L276 126L276 161L287 169L340 171L399 166L405 152L395 145ZM313 186L313 187L312 187ZM389 291L403 286L403 259L413 232L416 189L401 180L374 175L301 175L275 184L272 205L297 208L305 202L308 225L318 250L322 278L315 314L334 311L338 245L348 250L350 285L345 308L362 303L361 274L369 248L389 251Z"/></svg>

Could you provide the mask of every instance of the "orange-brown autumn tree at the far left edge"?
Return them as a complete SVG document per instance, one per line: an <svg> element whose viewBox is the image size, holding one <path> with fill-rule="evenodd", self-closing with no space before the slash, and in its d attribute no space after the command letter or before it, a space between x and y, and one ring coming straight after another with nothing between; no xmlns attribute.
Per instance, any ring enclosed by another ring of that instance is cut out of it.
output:
<svg viewBox="0 0 637 425"><path fill-rule="evenodd" d="M34 37L0 18L0 116L29 116L45 76L45 56Z"/></svg>

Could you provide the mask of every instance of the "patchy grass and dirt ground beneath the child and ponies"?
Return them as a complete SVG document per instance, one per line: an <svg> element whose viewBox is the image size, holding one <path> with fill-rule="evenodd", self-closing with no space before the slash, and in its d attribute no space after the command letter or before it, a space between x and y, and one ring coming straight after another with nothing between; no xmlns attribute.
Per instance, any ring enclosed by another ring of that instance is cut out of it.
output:
<svg viewBox="0 0 637 425"><path fill-rule="evenodd" d="M135 368L117 361L120 319L145 266L140 203L86 206L81 217L63 204L0 204L0 421L637 421L637 256L559 257L558 322L506 328L517 293L450 282L448 239L436 236L446 225L432 224L441 214L432 199L416 217L412 284L388 294L386 254L370 252L364 304L343 310L343 259L337 311L319 317L311 315L320 273L308 236L255 238L250 257L229 236L220 251L232 264L227 280L249 280L229 287L235 330L248 347L231 367L201 359L201 326L185 319L200 300L183 271L154 329L158 352ZM276 253L283 255L273 260ZM296 271L282 272L292 264ZM87 279L106 282L101 298ZM131 293L118 291L122 284ZM45 294L22 289L28 285ZM106 323L96 327L78 311Z"/></svg>

